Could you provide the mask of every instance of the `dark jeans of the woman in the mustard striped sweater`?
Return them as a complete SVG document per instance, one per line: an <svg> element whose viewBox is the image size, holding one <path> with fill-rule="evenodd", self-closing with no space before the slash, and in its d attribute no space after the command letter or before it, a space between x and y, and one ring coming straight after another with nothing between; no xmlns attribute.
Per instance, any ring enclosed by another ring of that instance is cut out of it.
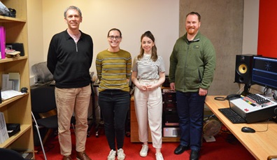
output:
<svg viewBox="0 0 277 160"><path fill-rule="evenodd" d="M108 145L115 149L123 147L125 138L125 120L130 106L130 95L120 90L105 90L99 93L99 106L104 119L105 135Z"/></svg>

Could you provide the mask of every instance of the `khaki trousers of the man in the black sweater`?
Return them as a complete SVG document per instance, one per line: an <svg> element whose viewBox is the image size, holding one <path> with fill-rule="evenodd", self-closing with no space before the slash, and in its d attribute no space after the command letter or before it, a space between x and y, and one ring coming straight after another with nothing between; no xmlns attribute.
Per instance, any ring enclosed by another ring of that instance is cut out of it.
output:
<svg viewBox="0 0 277 160"><path fill-rule="evenodd" d="M76 151L85 151L87 140L87 109L90 105L91 87L55 88L57 104L59 145L61 154L70 155L71 144L71 116L73 111L76 118Z"/></svg>

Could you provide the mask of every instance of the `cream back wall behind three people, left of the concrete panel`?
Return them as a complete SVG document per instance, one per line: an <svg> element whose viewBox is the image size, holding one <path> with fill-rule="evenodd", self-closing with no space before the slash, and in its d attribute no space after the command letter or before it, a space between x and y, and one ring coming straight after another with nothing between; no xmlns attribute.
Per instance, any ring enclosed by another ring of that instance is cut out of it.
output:
<svg viewBox="0 0 277 160"><path fill-rule="evenodd" d="M140 51L141 34L150 30L156 39L157 51L169 68L169 56L178 39L178 0L43 0L43 57L47 58L52 36L66 29L64 9L78 6L83 14L80 30L92 36L94 58L91 71L95 71L97 53L108 48L108 30L116 27L122 32L120 48L134 58ZM168 70L166 72L169 72Z"/></svg>

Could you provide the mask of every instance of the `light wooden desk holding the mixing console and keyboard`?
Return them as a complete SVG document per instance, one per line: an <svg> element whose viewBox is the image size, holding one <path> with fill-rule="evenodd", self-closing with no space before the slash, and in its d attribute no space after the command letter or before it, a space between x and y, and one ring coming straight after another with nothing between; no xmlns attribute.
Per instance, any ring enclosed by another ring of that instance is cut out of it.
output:
<svg viewBox="0 0 277 160"><path fill-rule="evenodd" d="M227 100L214 100L216 96L208 95L206 97L206 105L211 109L215 116L233 133L241 144L255 157L255 159L267 159L269 156L277 154L277 124L269 121L267 130L267 122L259 122L255 124L232 124L218 109L229 107ZM220 96L225 97L225 96ZM254 128L256 133L243 133L241 128L248 126ZM265 131L265 132L257 132Z"/></svg>

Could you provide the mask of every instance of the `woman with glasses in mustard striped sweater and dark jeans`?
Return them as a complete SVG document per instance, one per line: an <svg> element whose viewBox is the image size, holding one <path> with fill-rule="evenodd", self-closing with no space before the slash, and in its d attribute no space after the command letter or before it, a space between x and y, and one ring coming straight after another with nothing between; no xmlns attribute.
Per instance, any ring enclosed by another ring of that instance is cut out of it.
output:
<svg viewBox="0 0 277 160"><path fill-rule="evenodd" d="M99 84L99 106L104 118L105 135L111 148L108 160L125 159L122 149L125 139L125 119L129 110L129 78L132 56L120 49L122 34L113 28L108 32L108 49L97 55L96 67ZM117 149L116 149L117 148Z"/></svg>

